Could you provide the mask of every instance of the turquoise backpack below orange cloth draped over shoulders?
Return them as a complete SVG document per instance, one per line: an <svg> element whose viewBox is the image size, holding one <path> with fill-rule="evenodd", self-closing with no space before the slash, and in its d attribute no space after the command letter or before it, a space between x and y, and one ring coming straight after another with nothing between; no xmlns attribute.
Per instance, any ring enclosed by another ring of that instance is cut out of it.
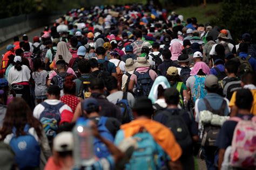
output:
<svg viewBox="0 0 256 170"><path fill-rule="evenodd" d="M133 138L136 139L138 148L133 151L129 164L126 164L125 169L160 169L160 149L151 134L139 132Z"/></svg>

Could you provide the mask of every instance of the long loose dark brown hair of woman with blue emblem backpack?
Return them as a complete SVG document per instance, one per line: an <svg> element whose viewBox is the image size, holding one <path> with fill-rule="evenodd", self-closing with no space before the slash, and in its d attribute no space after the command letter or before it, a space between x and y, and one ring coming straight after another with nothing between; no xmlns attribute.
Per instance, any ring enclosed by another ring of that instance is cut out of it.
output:
<svg viewBox="0 0 256 170"><path fill-rule="evenodd" d="M29 105L22 98L14 98L8 104L4 117L3 127L0 130L1 139L3 140L8 134L12 133L12 128L16 128L16 136L25 135L24 127L28 124L35 128L37 136L42 137L42 124L33 117Z"/></svg>

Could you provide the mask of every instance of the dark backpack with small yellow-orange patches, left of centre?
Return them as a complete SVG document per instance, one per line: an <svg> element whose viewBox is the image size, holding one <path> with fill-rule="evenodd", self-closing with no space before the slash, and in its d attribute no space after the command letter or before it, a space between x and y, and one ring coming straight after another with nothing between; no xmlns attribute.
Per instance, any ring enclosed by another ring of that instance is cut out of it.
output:
<svg viewBox="0 0 256 170"><path fill-rule="evenodd" d="M83 85L81 86L79 90L78 97L82 98L89 98L91 96L91 93L89 92L89 87L91 84L91 76L90 75L82 75L78 78Z"/></svg>

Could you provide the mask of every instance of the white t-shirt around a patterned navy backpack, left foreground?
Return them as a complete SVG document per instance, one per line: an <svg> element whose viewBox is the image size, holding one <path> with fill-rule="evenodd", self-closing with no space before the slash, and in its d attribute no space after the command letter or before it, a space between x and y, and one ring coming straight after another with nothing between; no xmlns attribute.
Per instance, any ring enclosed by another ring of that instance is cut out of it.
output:
<svg viewBox="0 0 256 170"><path fill-rule="evenodd" d="M60 101L57 100L57 99L52 99L52 100L49 100L49 99L48 99L48 100L45 100L44 102L46 102L47 104L50 104L50 105L56 105L56 104L59 104L59 103L60 103ZM73 112L72 109L71 109L68 105L66 105L66 104L64 104L64 105L59 109L60 114L62 114L63 110L69 110L69 111ZM40 117L40 115L42 114L43 111L44 111L43 105L42 105L42 104L38 104L38 105L35 107L35 109L33 110L33 116L34 116L35 118L39 119L39 117Z"/></svg>

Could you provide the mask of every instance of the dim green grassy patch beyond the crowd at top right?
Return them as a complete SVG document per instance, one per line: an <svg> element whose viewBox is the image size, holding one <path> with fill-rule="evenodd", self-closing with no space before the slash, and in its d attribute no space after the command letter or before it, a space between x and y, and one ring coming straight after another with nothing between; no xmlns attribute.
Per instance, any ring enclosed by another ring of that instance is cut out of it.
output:
<svg viewBox="0 0 256 170"><path fill-rule="evenodd" d="M186 8L174 9L176 13L183 15L184 20L190 17L196 17L198 23L205 24L215 19L217 13L221 9L221 3L217 4L207 4L199 6L188 6Z"/></svg>

